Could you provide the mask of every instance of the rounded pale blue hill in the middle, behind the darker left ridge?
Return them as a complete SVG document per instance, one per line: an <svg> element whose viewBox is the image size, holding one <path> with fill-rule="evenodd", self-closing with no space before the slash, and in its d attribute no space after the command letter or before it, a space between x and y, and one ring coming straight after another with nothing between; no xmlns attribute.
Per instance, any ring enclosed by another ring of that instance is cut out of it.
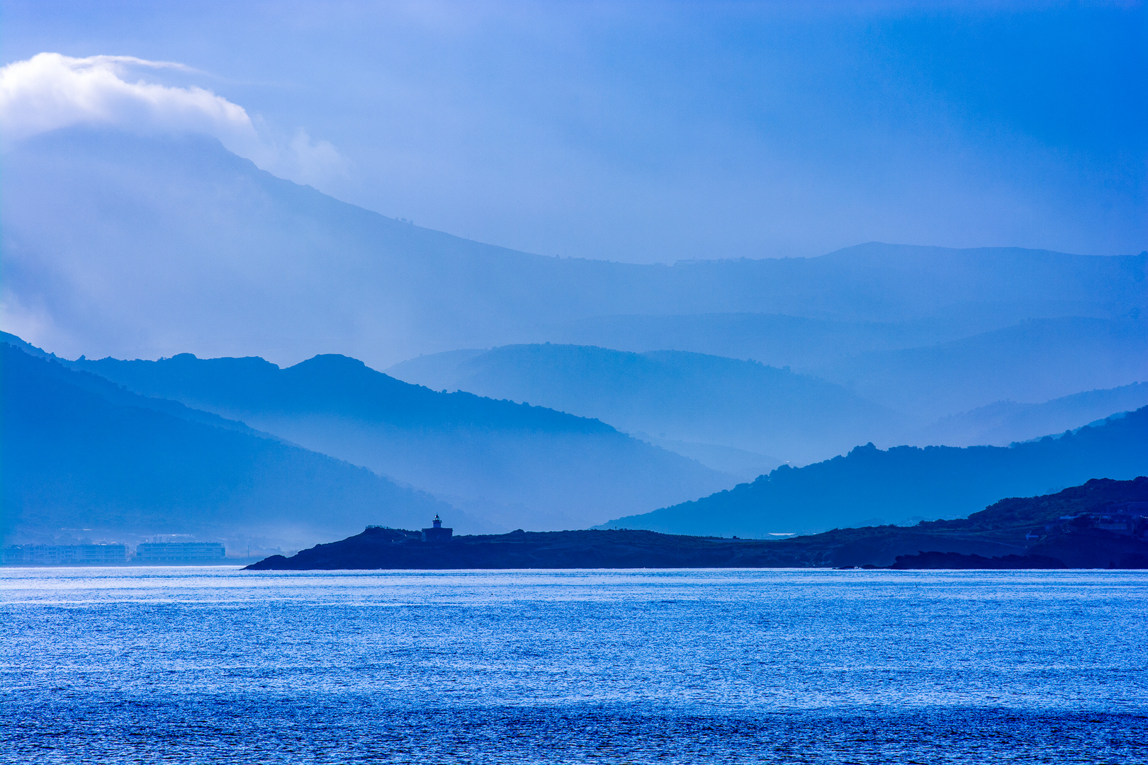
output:
<svg viewBox="0 0 1148 765"><path fill-rule="evenodd" d="M892 438L909 422L815 377L683 351L510 345L421 356L387 372L430 388L599 417L667 448L726 446L799 465L859 440Z"/></svg>

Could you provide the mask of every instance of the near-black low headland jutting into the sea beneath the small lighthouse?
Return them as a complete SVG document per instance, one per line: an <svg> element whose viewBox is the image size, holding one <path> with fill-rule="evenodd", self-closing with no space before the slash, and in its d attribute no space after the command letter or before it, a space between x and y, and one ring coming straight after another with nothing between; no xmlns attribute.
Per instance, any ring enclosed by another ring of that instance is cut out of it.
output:
<svg viewBox="0 0 1148 765"><path fill-rule="evenodd" d="M1055 494L1004 499L957 521L835 529L784 540L636 529L461 537L447 531L437 525L421 532L369 526L341 541L247 568L1140 569L1148 568L1148 478L1093 479Z"/></svg>

